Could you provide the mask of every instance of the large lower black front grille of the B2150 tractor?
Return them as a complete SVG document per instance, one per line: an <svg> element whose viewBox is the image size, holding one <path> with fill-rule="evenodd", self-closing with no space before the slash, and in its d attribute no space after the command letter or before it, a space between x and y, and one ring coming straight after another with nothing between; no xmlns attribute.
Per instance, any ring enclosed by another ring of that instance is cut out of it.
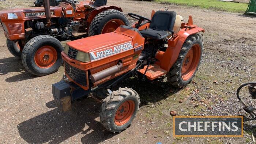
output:
<svg viewBox="0 0 256 144"><path fill-rule="evenodd" d="M76 67L73 67L72 65L68 64L67 62L65 63L65 72L68 76L71 77L71 79L73 79L76 83L82 85L82 86L86 86L87 82L86 82L86 72L78 69Z"/></svg>

